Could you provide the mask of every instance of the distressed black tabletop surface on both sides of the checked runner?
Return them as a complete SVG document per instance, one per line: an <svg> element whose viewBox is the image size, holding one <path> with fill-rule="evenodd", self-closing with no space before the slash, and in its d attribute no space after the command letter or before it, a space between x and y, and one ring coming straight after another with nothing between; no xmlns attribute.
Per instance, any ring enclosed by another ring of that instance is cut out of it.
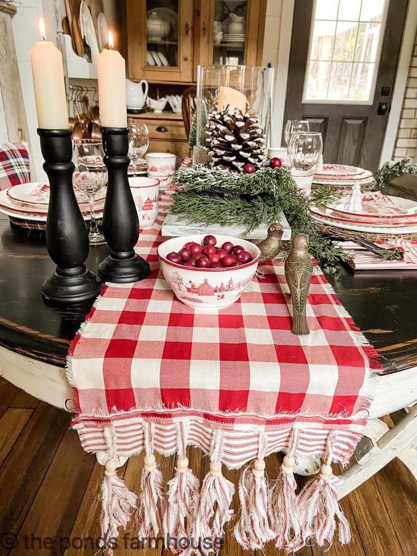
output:
<svg viewBox="0 0 417 556"><path fill-rule="evenodd" d="M90 247L87 266L107 256L107 245ZM0 350L63 369L69 342L91 309L91 302L51 307L41 296L43 280L54 269L44 232L0 219ZM384 374L417 366L417 271L360 271L344 265L324 269L337 297L381 355ZM0 356L0 364L2 358ZM3 375L13 381L13 376ZM18 386L22 386L19 382ZM46 385L47 389L47 385ZM45 391L44 399L53 400ZM61 405L56 403L56 405Z"/></svg>

